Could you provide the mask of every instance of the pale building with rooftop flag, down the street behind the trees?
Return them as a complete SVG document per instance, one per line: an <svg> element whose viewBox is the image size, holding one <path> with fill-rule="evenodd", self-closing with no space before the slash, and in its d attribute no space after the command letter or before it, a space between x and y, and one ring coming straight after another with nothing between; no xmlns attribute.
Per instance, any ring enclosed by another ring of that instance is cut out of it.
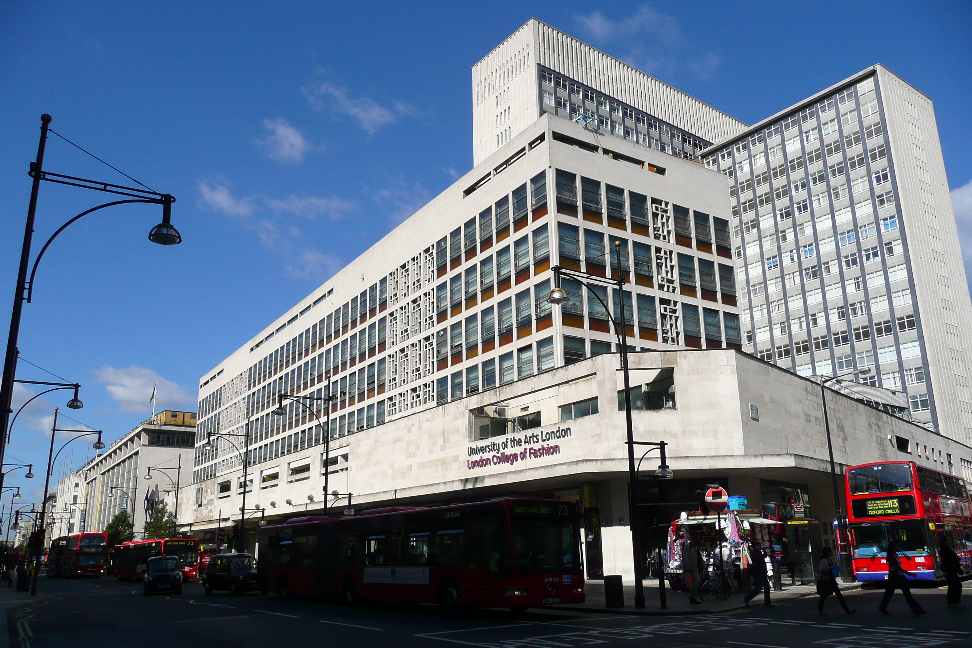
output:
<svg viewBox="0 0 972 648"><path fill-rule="evenodd" d="M190 481L195 412L166 410L132 429L79 471L85 482L85 520L81 531L103 531L121 511L135 523L141 537L156 504L175 495L175 486ZM179 465L182 465L181 471ZM150 466L152 479L145 479ZM174 496L167 500L170 510ZM185 505L186 502L180 502Z"/></svg>

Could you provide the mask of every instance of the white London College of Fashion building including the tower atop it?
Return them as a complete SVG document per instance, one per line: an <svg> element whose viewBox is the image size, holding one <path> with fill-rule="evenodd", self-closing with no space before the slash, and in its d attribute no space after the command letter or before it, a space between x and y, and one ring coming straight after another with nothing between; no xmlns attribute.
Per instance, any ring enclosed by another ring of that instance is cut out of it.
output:
<svg viewBox="0 0 972 648"><path fill-rule="evenodd" d="M636 438L670 442L677 471L651 520L694 508L712 481L827 519L819 386L736 351L729 188L694 161L745 124L536 20L476 64L472 90L473 169L200 381L183 527L206 538L238 522L244 492L246 513L270 521L343 508L349 493L356 508L560 496L604 529L587 564L630 575L606 312L621 299ZM571 300L547 303L553 265L607 276L615 242L630 290L565 280ZM842 466L972 468L967 446L888 414L904 394L833 386ZM278 417L280 394L336 401L285 400ZM323 492L325 475L341 495Z"/></svg>

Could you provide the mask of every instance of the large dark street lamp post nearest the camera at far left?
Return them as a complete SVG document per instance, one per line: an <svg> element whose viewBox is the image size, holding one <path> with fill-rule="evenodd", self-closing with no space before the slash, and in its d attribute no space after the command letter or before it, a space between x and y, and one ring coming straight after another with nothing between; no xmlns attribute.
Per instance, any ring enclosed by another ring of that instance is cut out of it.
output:
<svg viewBox="0 0 972 648"><path fill-rule="evenodd" d="M14 291L14 307L10 315L10 333L7 337L7 352L4 357L2 380L0 380L0 463L3 463L4 453L7 447L7 432L10 415L13 412L11 403L14 399L14 379L17 373L17 339L20 334L20 316L23 311L23 302L30 301L34 290L34 276L37 273L37 264L47 251L54 238L73 222L76 222L88 214L105 207L121 205L126 203L149 203L162 206L162 222L158 223L149 231L149 240L158 245L176 245L182 242L182 235L172 226L172 203L175 198L168 193L157 193L147 188L131 188L121 185L112 185L85 178L64 176L57 173L44 171L44 152L47 146L48 131L50 129L52 117L50 115L41 116L41 138L37 145L37 159L30 163L28 175L33 179L30 188L30 203L27 206L27 220L23 227L23 244L20 248L20 263L17 268L17 287ZM33 269L30 272L30 279L27 279L27 270L30 265L31 244L34 234L34 220L37 213L37 197L41 189L41 181L56 183L58 185L68 185L114 193L116 195L127 196L125 200L115 200L96 207L92 207L68 222L61 225L44 244L40 254L34 259ZM137 181L136 181L137 182ZM79 401L80 402L80 401ZM71 407L68 404L68 407Z"/></svg>

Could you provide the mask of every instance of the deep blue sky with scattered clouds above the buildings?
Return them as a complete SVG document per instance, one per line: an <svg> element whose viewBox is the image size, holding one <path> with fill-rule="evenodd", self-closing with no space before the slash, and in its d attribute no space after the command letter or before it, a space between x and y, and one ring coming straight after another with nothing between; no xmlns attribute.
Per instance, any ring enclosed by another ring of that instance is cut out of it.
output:
<svg viewBox="0 0 972 648"><path fill-rule="evenodd" d="M114 439L156 380L160 407L194 410L204 372L469 170L469 68L530 17L748 123L884 63L935 102L972 248L965 3L3 3L3 330L41 113L178 199L175 248L147 241L154 207L72 225L24 310L22 357L82 383L69 416ZM46 168L128 183L56 138ZM45 185L35 251L103 197ZM8 452L40 463L63 399L34 402Z"/></svg>

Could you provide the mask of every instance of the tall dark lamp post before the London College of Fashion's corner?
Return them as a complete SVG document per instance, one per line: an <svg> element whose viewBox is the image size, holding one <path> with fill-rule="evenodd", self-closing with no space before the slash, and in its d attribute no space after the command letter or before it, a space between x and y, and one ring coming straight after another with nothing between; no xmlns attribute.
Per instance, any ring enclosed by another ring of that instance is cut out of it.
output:
<svg viewBox="0 0 972 648"><path fill-rule="evenodd" d="M619 320L614 319L611 315L611 309L608 308L608 304L604 302L601 295L597 293L596 290L589 290L591 294L597 297L601 305L604 306L605 312L608 314L608 320L614 325L614 333L618 338L618 345L620 346L621 354L621 372L624 374L624 420L627 429L627 445L628 445L628 516L630 518L629 524L631 529L631 550L632 558L634 559L635 567L635 607L644 607L644 584L642 583L642 549L641 549L641 536L640 536L640 525L638 519L638 504L636 501L637 494L635 494L632 489L635 488L636 482L638 480L638 474L635 469L635 431L631 420L631 376L628 368L628 325L627 318L625 316L624 308L624 285L625 285L625 269L621 265L621 242L615 241L614 243L614 260L617 265L617 279L611 280L607 277L601 277L599 275L592 275L586 272L580 272L579 270L569 270L563 268L560 265L555 265L553 270L554 276L554 288L550 290L550 296L547 297L547 302L560 305L565 304L570 301L570 297L567 296L567 292L561 288L560 279L562 276L569 277L574 281L579 282L585 288L588 286L588 282L595 284L616 286L618 290L618 313Z"/></svg>

